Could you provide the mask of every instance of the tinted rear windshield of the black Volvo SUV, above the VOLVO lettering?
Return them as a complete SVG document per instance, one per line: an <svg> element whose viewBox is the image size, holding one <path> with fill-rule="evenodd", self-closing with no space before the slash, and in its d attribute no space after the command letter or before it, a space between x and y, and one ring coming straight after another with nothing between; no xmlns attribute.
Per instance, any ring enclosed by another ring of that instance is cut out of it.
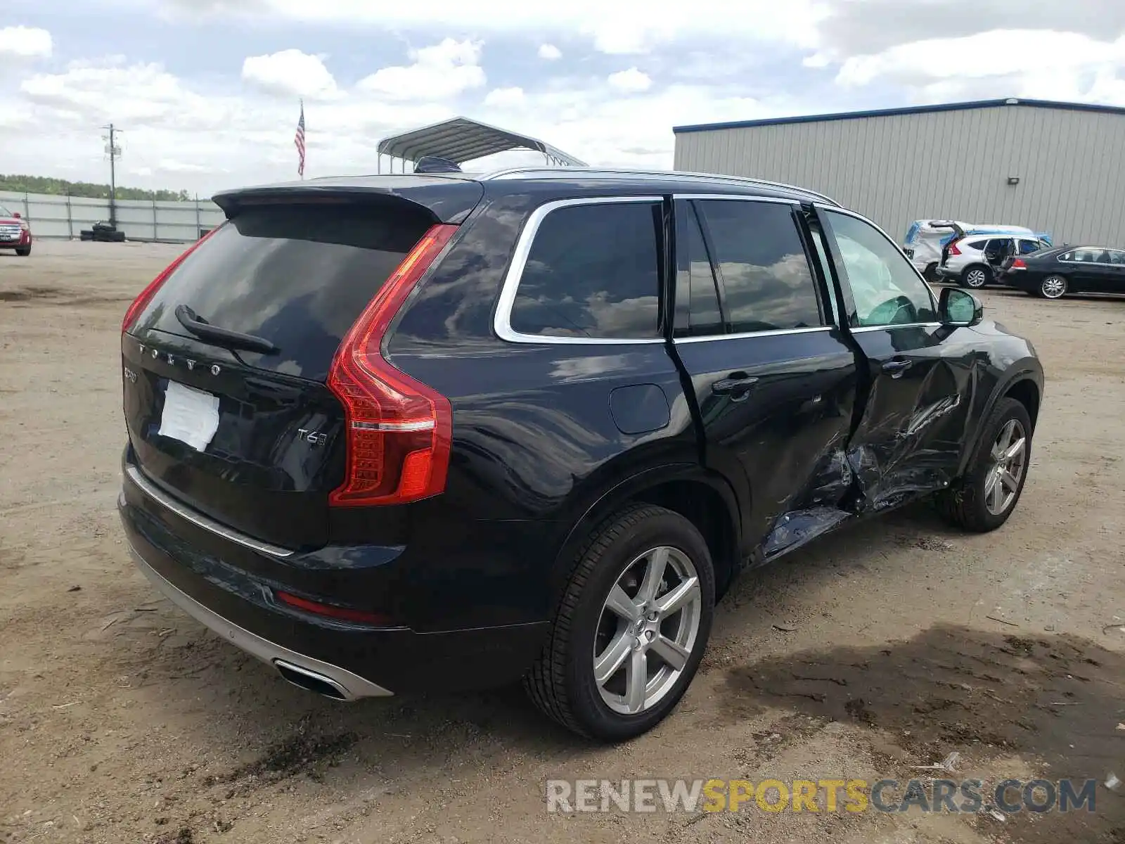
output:
<svg viewBox="0 0 1125 844"><path fill-rule="evenodd" d="M249 365L323 380L343 335L430 222L406 205L246 208L188 255L138 330L191 336L176 317L187 305L213 325L280 349L238 351Z"/></svg>

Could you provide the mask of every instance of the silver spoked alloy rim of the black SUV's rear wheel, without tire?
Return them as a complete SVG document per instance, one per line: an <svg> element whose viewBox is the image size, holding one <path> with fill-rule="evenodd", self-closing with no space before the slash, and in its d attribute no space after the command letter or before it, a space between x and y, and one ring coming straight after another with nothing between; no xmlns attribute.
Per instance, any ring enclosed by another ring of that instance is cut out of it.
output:
<svg viewBox="0 0 1125 844"><path fill-rule="evenodd" d="M652 548L626 566L594 638L594 682L605 704L621 715L656 706L687 665L702 612L699 574L678 548Z"/></svg>

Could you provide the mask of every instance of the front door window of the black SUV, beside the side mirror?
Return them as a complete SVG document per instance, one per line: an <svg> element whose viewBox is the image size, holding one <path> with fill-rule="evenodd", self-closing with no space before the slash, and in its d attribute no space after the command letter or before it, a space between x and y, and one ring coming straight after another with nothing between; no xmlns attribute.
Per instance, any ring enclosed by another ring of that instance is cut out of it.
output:
<svg viewBox="0 0 1125 844"><path fill-rule="evenodd" d="M855 299L853 326L935 322L934 298L910 262L868 223L821 209Z"/></svg>

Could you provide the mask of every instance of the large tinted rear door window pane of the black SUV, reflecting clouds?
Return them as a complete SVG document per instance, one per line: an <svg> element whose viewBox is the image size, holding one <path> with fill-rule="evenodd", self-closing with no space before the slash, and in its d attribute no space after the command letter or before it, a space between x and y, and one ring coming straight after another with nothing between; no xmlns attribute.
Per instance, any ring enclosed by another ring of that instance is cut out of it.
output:
<svg viewBox="0 0 1125 844"><path fill-rule="evenodd" d="M703 216L734 333L822 325L793 206L706 199Z"/></svg>

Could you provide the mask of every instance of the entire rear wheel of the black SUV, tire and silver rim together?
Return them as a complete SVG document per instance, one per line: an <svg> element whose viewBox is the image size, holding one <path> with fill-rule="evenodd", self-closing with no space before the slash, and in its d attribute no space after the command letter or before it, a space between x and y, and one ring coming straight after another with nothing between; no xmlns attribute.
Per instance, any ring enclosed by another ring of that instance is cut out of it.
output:
<svg viewBox="0 0 1125 844"><path fill-rule="evenodd" d="M711 554L695 526L664 508L629 508L578 553L524 686L575 733L603 742L639 736L695 676L713 608Z"/></svg>

